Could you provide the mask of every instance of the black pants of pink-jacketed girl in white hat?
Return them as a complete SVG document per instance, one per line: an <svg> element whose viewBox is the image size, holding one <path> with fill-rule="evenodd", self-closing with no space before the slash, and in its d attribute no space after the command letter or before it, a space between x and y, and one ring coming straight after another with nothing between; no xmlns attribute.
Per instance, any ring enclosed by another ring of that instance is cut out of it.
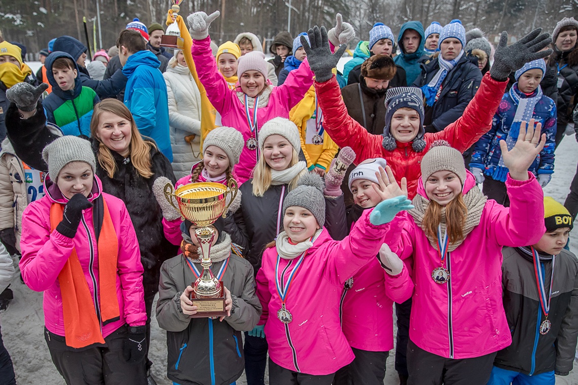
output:
<svg viewBox="0 0 578 385"><path fill-rule="evenodd" d="M390 352L369 352L352 347L355 358L335 373L333 385L383 385Z"/></svg>

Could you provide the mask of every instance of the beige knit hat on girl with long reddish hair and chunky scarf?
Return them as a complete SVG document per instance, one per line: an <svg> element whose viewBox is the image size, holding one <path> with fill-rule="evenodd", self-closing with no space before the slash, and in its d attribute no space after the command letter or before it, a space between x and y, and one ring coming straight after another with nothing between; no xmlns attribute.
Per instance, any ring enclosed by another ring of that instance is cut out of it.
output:
<svg viewBox="0 0 578 385"><path fill-rule="evenodd" d="M464 156L457 149L450 146L445 140L433 142L428 152L421 158L421 180L424 182L429 175L440 170L451 171L458 175L462 185L466 180L466 168L464 166Z"/></svg>

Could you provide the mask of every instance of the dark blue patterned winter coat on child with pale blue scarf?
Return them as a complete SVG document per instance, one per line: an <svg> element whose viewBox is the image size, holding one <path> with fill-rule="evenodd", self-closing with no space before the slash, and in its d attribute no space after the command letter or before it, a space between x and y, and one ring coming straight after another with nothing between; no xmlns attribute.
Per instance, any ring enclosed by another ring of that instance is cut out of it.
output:
<svg viewBox="0 0 578 385"><path fill-rule="evenodd" d="M512 89L520 98L528 98L528 95L518 91L517 83L512 86ZM534 91L530 96L536 95L537 92L538 90ZM494 175L502 156L499 141L506 140L509 135L517 107L510 93L506 92L492 120L492 128L475 145L472 160L469 164L470 167L477 167L490 177ZM536 156L536 160L529 167L529 171L534 175L553 174L556 137L556 104L554 100L547 96L542 96L542 99L534 107L532 118L535 119L536 123L542 124L542 133L546 134L546 145L544 145L540 154Z"/></svg>

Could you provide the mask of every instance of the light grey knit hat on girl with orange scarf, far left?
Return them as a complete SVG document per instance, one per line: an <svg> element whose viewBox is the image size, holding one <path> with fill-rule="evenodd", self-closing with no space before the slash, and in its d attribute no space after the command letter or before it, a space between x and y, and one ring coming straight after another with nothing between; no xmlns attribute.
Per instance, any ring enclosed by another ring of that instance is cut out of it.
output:
<svg viewBox="0 0 578 385"><path fill-rule="evenodd" d="M71 162L85 162L92 168L92 173L97 168L94 152L90 142L86 139L73 135L65 135L46 145L42 150L42 159L48 165L50 179L56 182L62 167Z"/></svg>

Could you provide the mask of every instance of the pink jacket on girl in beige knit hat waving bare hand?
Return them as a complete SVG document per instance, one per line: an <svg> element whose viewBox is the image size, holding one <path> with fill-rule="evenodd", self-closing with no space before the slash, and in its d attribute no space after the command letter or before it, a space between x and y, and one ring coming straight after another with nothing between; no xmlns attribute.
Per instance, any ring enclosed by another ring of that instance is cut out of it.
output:
<svg viewBox="0 0 578 385"><path fill-rule="evenodd" d="M404 211L398 214L399 222L390 223L387 239L398 240L390 244L391 250L405 263L413 258L413 272L407 280L386 274L387 289L397 302L412 297L409 338L421 349L461 359L497 352L512 343L502 305L502 247L535 244L546 231L542 188L528 174L527 181L508 174L510 207L488 200L480 224L448 253L447 284L433 281L440 256L413 217ZM468 171L464 192L472 188L477 188L476 180ZM421 178L417 193L426 196Z"/></svg>

